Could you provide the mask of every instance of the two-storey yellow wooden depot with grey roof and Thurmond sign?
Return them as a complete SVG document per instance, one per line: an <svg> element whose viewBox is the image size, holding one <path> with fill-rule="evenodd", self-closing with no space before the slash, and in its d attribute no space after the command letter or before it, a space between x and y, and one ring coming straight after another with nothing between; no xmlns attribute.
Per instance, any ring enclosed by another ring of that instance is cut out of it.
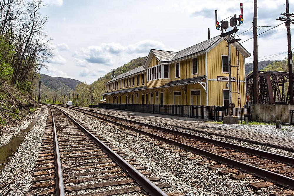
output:
<svg viewBox="0 0 294 196"><path fill-rule="evenodd" d="M239 99L232 93L235 107L246 103L244 59L249 56L240 43L231 44L232 91L240 92ZM106 103L228 105L228 44L216 36L178 52L151 49L143 66L105 85Z"/></svg>

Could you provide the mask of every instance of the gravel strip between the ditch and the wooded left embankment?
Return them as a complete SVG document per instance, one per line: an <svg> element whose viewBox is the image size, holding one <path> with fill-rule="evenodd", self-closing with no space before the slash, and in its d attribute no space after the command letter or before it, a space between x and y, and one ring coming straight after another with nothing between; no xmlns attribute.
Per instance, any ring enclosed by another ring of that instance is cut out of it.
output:
<svg viewBox="0 0 294 196"><path fill-rule="evenodd" d="M23 123L16 127L5 128L3 132L0 131L0 147L9 143L9 141L18 134L21 130L24 130L29 127L31 122L37 118L40 114L41 108L38 108L34 111L33 115L30 115Z"/></svg>

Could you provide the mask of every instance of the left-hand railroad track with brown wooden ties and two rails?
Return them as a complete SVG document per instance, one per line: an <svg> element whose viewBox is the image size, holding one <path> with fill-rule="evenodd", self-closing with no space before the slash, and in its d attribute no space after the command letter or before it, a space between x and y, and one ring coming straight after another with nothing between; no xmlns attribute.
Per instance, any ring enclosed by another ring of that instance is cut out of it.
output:
<svg viewBox="0 0 294 196"><path fill-rule="evenodd" d="M33 184L26 195L120 195L140 192L166 194L167 183L104 138L93 135L58 108L49 106ZM139 172L140 171L140 172ZM154 183L153 183L154 182Z"/></svg>

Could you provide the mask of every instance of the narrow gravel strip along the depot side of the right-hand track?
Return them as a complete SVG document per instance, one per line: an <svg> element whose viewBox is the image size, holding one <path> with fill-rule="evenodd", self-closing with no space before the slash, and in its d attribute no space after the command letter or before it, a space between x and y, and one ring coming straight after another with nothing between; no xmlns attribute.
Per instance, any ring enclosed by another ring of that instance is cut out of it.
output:
<svg viewBox="0 0 294 196"><path fill-rule="evenodd" d="M284 155L284 156L294 157L293 152L289 152L289 151L278 149L278 148L269 147L269 146L266 146L266 145L256 145L256 144L243 142L243 141L235 140L235 139L230 139L230 138L226 138L226 137L220 137L220 136L211 135L211 134L207 134L207 133L199 133L199 132L192 131L192 130L178 128L178 127L175 127L175 126L170 125L170 124L157 122L157 121L149 120L149 119L147 120L146 118L134 118L134 117L129 117L129 116L116 114L116 113L112 113L112 112L106 112L105 110L100 110L100 109L99 109L99 111L101 113L105 113L105 114L108 114L108 115L113 115L113 116L126 118L126 119L130 119L130 120L135 120L135 121L142 122L142 123L147 123L147 124L150 124L150 125L161 126L161 127L164 127L164 128L170 128L170 129L173 129L173 130L178 130L178 131L182 131L182 132L186 132L186 133L191 133L191 134L194 134L194 135L200 135L200 136L203 136L203 137L213 138L213 139L224 141L224 142L229 142L229 143L233 143L233 144L237 144L237 145L243 145L243 146L250 147L250 148L255 148L255 149L264 150L264 151L268 151L268 152L272 152L272 153L277 153L277 154L281 154L281 155ZM248 125L246 125L246 126L248 126Z"/></svg>

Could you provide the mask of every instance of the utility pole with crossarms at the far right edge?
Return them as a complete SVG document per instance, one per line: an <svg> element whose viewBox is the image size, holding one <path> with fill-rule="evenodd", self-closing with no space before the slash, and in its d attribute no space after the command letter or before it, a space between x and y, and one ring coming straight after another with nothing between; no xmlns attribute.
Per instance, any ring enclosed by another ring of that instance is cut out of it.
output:
<svg viewBox="0 0 294 196"><path fill-rule="evenodd" d="M293 105L293 62L292 62L292 49L291 49L291 28L290 24L294 24L294 20L290 19L290 16L294 16L294 14L290 14L289 11L289 0L286 0L286 13L281 14L284 17L279 17L277 20L285 21L285 26L287 27L287 39L288 39L288 69L289 69L289 104Z"/></svg>

